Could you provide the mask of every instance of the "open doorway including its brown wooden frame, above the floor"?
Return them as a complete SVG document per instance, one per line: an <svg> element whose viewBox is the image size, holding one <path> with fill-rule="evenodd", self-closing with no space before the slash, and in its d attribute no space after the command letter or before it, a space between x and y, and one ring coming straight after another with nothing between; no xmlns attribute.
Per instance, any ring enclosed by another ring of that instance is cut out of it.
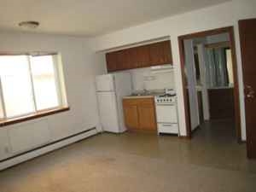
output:
<svg viewBox="0 0 256 192"><path fill-rule="evenodd" d="M187 137L191 139L201 125L218 122L235 125L241 142L233 26L180 36L178 42Z"/></svg>

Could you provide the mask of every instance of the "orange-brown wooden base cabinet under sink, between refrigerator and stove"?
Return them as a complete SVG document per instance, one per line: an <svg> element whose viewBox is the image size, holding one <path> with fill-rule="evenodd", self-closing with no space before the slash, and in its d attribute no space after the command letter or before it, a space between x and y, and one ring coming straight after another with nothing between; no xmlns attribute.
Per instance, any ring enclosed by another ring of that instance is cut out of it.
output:
<svg viewBox="0 0 256 192"><path fill-rule="evenodd" d="M123 108L128 130L157 131L154 98L124 99Z"/></svg>

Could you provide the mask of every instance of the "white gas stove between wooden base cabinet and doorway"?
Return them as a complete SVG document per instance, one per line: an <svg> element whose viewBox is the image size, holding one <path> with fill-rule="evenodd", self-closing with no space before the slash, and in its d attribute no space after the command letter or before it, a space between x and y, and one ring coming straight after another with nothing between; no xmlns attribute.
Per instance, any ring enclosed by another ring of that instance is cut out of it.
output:
<svg viewBox="0 0 256 192"><path fill-rule="evenodd" d="M155 96L154 103L158 134L178 134L176 96L170 94Z"/></svg>

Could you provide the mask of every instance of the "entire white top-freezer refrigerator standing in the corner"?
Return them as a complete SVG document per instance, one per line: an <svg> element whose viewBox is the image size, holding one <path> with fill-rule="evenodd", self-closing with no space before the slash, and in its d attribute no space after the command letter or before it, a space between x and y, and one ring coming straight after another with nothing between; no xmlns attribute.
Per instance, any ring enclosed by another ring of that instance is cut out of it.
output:
<svg viewBox="0 0 256 192"><path fill-rule="evenodd" d="M96 95L103 131L126 130L122 97L131 95L131 74L113 73L96 76Z"/></svg>

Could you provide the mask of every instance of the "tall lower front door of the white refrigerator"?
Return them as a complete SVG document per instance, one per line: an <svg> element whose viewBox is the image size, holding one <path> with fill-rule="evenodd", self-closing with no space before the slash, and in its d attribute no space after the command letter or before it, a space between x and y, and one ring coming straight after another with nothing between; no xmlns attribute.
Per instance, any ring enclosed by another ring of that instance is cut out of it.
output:
<svg viewBox="0 0 256 192"><path fill-rule="evenodd" d="M97 92L103 131L119 132L117 101L114 92Z"/></svg>

